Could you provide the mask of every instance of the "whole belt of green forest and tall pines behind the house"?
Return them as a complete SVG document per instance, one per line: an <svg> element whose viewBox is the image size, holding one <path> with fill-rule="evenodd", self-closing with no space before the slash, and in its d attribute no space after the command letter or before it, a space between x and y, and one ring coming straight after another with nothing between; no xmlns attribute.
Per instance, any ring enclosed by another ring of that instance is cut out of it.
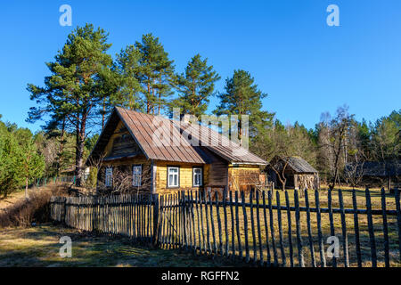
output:
<svg viewBox="0 0 401 285"><path fill-rule="evenodd" d="M267 111L262 104L266 97L268 102L268 90L258 88L250 71L233 70L224 89L216 90L222 78L205 55L194 54L184 70L176 70L152 34L115 55L109 53L108 37L91 24L76 28L53 61L45 63L49 76L44 85L28 84L32 108L27 121L42 121L42 130L32 134L28 128L0 121L4 196L28 188L37 178L68 173L76 176L77 186L82 185L86 158L114 106L163 116L171 116L178 107L181 113L200 118L209 114L213 96L219 103L209 115L238 115L240 123L241 116L249 116L250 151L266 161L300 156L332 188L361 183L356 171L345 175L346 165L401 158L401 110L367 122L357 121L343 105L335 114L323 112L313 129L301 122L284 125L274 110Z"/></svg>

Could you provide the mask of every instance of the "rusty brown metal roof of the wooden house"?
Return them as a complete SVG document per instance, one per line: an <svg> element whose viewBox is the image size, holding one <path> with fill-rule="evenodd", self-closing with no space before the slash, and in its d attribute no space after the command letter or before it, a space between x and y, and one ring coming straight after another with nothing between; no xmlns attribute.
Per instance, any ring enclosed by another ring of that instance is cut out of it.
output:
<svg viewBox="0 0 401 285"><path fill-rule="evenodd" d="M127 126L147 159L207 164L213 160L209 155L209 151L212 151L230 163L267 164L265 160L208 126L183 123L120 107L112 111L90 157L102 153L119 119Z"/></svg>

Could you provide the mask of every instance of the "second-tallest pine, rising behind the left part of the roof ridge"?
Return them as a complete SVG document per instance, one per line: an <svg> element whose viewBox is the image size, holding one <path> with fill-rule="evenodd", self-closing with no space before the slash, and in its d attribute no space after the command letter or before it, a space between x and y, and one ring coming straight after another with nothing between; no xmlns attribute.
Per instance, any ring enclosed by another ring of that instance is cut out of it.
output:
<svg viewBox="0 0 401 285"><path fill-rule="evenodd" d="M174 61L168 59L159 37L151 34L143 35L142 43L136 42L135 47L141 53L137 79L142 85L146 113L160 114L172 94Z"/></svg>

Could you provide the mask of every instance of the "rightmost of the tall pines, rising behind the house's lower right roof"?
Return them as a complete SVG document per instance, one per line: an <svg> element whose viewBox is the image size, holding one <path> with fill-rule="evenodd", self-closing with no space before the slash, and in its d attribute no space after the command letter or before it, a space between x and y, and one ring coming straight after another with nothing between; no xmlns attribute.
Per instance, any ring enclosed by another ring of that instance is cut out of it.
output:
<svg viewBox="0 0 401 285"><path fill-rule="evenodd" d="M272 125L273 113L261 110L262 99L267 94L262 93L255 84L255 79L244 70L234 70L233 77L225 80L225 92L218 94L220 104L214 113L221 115L238 115L238 133L242 140L242 116L249 116L250 138L263 135L266 126Z"/></svg>

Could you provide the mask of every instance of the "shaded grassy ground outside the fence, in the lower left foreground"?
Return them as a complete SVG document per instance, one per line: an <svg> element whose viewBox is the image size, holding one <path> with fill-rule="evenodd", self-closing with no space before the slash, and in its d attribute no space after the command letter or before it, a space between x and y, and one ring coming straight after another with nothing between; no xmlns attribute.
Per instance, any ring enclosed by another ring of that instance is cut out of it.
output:
<svg viewBox="0 0 401 285"><path fill-rule="evenodd" d="M70 236L72 257L61 258L61 236ZM192 256L176 249L134 246L130 240L88 235L41 224L0 232L0 266L232 266L225 260Z"/></svg>

